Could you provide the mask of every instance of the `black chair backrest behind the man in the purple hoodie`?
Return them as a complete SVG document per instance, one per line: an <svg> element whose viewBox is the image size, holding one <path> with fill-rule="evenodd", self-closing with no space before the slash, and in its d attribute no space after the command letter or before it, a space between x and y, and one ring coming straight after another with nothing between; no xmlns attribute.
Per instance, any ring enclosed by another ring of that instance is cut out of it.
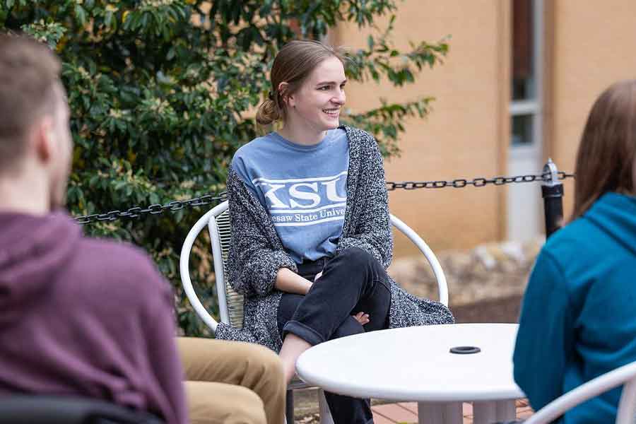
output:
<svg viewBox="0 0 636 424"><path fill-rule="evenodd" d="M0 424L160 424L155 416L97 399L20 395L0 399Z"/></svg>

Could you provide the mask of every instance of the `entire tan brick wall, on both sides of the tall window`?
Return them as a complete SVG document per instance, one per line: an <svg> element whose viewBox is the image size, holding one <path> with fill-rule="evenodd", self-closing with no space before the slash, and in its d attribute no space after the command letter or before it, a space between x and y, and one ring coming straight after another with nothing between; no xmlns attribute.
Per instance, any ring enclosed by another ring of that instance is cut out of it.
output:
<svg viewBox="0 0 636 424"><path fill-rule="evenodd" d="M351 84L348 106L363 111L380 96L406 101L433 95L430 117L411 119L401 137L401 158L386 164L387 179L452 179L507 173L510 119L510 2L406 0L398 4L394 41L435 41L451 35L442 66L420 73L417 83ZM636 1L545 0L544 156L574 171L579 136L592 102L614 81L636 78ZM383 28L382 23L380 27ZM342 25L332 40L361 47L367 33ZM565 183L571 211L572 180ZM506 191L418 190L391 193L391 211L423 235L433 249L467 248L502 240ZM396 254L412 254L396 240Z"/></svg>

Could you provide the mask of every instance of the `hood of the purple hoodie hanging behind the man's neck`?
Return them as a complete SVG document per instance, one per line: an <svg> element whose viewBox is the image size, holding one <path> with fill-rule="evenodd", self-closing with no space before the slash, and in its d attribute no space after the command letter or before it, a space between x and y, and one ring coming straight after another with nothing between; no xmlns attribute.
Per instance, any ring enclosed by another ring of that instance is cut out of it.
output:
<svg viewBox="0 0 636 424"><path fill-rule="evenodd" d="M80 239L79 225L65 213L0 213L0 327L45 294Z"/></svg>

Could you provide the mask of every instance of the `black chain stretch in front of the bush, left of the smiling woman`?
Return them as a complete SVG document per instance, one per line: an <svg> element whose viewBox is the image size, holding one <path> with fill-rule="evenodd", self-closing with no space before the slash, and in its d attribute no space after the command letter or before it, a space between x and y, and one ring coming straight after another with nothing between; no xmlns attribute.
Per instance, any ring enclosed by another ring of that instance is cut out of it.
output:
<svg viewBox="0 0 636 424"><path fill-rule="evenodd" d="M145 208L134 206L132 208L128 208L126 211L110 211L106 213L93 213L92 215L77 216L75 220L78 224L83 225L101 221L114 221L120 218L139 218L148 214L159 215L165 211L174 212L187 207L205 206L224 201L225 199L228 199L227 192L204 194L203 196L194 197L192 199L169 201L164 205L153 204L146 206Z"/></svg>

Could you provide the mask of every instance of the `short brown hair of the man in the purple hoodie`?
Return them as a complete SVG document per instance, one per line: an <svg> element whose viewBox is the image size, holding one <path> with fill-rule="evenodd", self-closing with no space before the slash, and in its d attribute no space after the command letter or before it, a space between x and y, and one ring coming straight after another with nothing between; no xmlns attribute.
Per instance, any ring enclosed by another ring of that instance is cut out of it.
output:
<svg viewBox="0 0 636 424"><path fill-rule="evenodd" d="M47 45L0 34L0 172L23 154L35 120L52 112L60 69Z"/></svg>

